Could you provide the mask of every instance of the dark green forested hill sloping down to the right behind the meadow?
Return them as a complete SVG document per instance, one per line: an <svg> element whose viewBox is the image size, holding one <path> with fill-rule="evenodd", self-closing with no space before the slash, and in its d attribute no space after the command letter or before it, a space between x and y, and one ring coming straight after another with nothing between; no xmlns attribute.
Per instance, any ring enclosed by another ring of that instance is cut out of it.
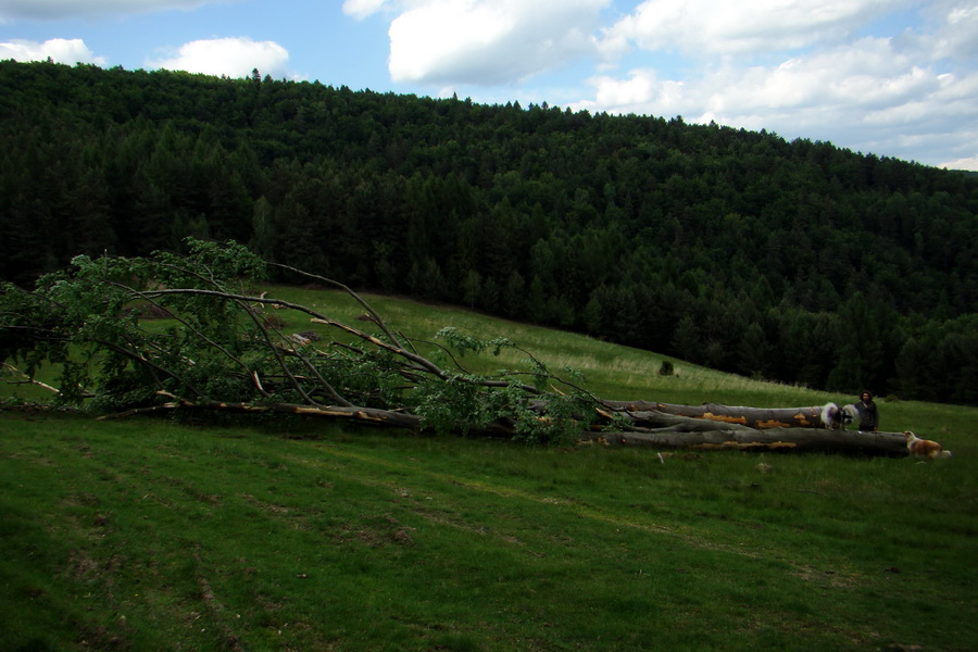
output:
<svg viewBox="0 0 978 652"><path fill-rule="evenodd" d="M722 369L978 403L974 175L679 117L10 61L0 138L20 284L235 239Z"/></svg>

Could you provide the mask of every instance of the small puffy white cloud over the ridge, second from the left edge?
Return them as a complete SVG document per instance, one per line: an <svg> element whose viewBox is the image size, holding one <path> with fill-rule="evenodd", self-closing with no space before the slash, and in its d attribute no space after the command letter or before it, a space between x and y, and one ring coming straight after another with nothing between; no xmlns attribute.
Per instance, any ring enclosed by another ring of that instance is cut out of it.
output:
<svg viewBox="0 0 978 652"><path fill-rule="evenodd" d="M185 43L175 57L148 61L147 66L228 77L247 77L258 68L262 76L280 78L292 77L286 68L288 59L288 50L274 41L216 38Z"/></svg>

